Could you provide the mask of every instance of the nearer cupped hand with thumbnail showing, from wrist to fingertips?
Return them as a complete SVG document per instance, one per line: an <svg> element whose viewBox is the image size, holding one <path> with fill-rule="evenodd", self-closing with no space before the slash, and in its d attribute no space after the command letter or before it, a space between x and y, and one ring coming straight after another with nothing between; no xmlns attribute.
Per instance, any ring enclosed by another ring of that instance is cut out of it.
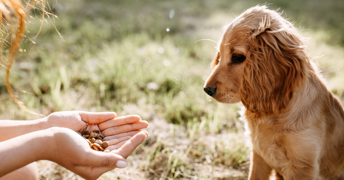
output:
<svg viewBox="0 0 344 180"><path fill-rule="evenodd" d="M91 149L87 141L71 129L55 127L49 130L53 140L47 146L46 159L91 180L116 167L126 167L125 158L148 137L147 132L139 132L119 149L104 153Z"/></svg>

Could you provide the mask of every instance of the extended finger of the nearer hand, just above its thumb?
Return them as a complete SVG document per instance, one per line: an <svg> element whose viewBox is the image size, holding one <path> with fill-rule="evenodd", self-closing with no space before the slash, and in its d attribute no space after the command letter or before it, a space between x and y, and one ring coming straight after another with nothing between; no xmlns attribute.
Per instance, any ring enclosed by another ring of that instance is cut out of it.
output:
<svg viewBox="0 0 344 180"><path fill-rule="evenodd" d="M125 144L123 144L120 148L111 151L112 153L116 153L124 158L127 158L135 148L140 145L145 139L147 134L145 132L139 132L134 135L130 140L128 140Z"/></svg>

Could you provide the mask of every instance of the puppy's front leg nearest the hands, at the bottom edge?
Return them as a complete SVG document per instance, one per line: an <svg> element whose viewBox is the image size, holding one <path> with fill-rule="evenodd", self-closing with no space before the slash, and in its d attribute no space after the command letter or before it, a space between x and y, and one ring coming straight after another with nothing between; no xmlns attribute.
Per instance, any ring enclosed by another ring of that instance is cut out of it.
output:
<svg viewBox="0 0 344 180"><path fill-rule="evenodd" d="M251 152L249 180L268 180L272 168L254 150Z"/></svg>

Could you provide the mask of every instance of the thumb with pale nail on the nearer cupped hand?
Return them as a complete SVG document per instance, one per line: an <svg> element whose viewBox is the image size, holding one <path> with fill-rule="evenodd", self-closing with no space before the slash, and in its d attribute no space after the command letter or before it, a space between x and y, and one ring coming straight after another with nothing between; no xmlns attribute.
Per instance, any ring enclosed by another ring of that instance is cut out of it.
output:
<svg viewBox="0 0 344 180"><path fill-rule="evenodd" d="M110 167L110 168L125 168L127 161L125 158L114 153L104 153L92 150L86 160L86 166L95 167ZM85 166L84 165L84 166Z"/></svg>

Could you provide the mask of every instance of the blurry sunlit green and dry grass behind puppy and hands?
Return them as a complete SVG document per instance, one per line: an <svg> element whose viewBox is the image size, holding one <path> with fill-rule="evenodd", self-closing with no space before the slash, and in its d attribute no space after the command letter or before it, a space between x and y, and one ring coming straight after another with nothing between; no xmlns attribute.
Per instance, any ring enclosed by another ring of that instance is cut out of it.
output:
<svg viewBox="0 0 344 180"><path fill-rule="evenodd" d="M52 21L63 39L52 22L44 23L36 45L25 39L11 84L29 109L45 115L115 111L149 121L151 136L128 158L129 166L100 179L245 179L249 151L238 120L240 104L219 104L203 92L216 44L195 41L219 39L233 14L264 2L61 0L54 8L59 20ZM343 3L269 3L285 10L297 27L311 28L303 31L313 38L308 53L324 55L316 61L328 87L344 96ZM30 21L32 37L40 21ZM4 85L4 68L0 75L0 118L38 118L14 104ZM49 161L39 161L39 169L42 180L80 179Z"/></svg>

